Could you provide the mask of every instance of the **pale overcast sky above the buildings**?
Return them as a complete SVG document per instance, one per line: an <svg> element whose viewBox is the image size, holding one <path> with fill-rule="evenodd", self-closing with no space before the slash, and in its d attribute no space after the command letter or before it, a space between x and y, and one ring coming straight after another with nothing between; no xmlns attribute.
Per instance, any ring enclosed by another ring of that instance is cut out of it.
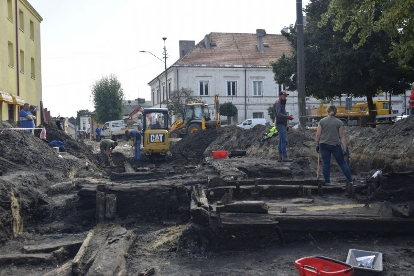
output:
<svg viewBox="0 0 414 276"><path fill-rule="evenodd" d="M179 41L211 32L267 34L294 24L296 0L29 0L40 24L43 106L53 117L94 110L91 87L113 74L125 100L179 59ZM309 0L303 0L303 7ZM152 52L159 59L150 53Z"/></svg>

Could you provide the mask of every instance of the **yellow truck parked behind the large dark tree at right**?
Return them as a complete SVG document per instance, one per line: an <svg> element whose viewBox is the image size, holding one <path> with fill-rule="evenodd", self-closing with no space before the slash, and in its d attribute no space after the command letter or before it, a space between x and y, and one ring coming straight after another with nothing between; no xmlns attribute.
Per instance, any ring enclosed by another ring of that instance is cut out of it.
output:
<svg viewBox="0 0 414 276"><path fill-rule="evenodd" d="M390 102L385 100L373 101L375 106L376 115L388 115L391 111L393 113ZM320 119L328 116L328 105L311 106L309 109L309 119L313 123L319 122ZM365 126L365 123L369 120L368 104L360 103L352 105L352 110L345 110L345 105L336 105L338 112L336 118L344 121L345 125L350 125L350 121L356 121L360 126Z"/></svg>

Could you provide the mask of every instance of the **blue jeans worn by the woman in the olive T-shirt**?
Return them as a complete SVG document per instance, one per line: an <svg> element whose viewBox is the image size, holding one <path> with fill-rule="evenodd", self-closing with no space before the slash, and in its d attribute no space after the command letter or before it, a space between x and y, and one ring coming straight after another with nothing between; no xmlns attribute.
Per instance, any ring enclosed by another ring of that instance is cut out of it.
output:
<svg viewBox="0 0 414 276"><path fill-rule="evenodd" d="M346 179L349 182L352 182L351 171L349 170L348 165L344 159L344 153L342 152L341 145L331 146L327 144L320 143L319 150L321 151L322 161L324 165L322 167L322 173L324 174L325 182L330 183L329 179L329 169L330 169L330 155L332 154L335 157L336 162L339 167L341 167L342 172L345 174Z"/></svg>

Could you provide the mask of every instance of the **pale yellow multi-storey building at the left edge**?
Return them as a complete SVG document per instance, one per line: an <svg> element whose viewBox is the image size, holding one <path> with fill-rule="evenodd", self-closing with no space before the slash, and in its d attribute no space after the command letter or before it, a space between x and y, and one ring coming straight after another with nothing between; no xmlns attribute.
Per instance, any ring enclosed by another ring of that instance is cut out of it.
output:
<svg viewBox="0 0 414 276"><path fill-rule="evenodd" d="M40 123L42 20L26 0L0 1L0 120L18 121L21 106L29 103L38 107Z"/></svg>

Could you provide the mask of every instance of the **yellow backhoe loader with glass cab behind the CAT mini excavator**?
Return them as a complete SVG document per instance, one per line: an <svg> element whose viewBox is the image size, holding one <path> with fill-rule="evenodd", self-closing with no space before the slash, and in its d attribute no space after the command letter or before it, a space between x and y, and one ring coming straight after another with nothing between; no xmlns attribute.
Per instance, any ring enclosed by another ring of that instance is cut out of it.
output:
<svg viewBox="0 0 414 276"><path fill-rule="evenodd" d="M170 128L170 138L180 138L183 135L196 132L200 129L219 129L220 121L220 105L219 95L214 95L214 120L210 118L210 110L208 104L195 103L186 104L184 106L183 119L178 119Z"/></svg>

